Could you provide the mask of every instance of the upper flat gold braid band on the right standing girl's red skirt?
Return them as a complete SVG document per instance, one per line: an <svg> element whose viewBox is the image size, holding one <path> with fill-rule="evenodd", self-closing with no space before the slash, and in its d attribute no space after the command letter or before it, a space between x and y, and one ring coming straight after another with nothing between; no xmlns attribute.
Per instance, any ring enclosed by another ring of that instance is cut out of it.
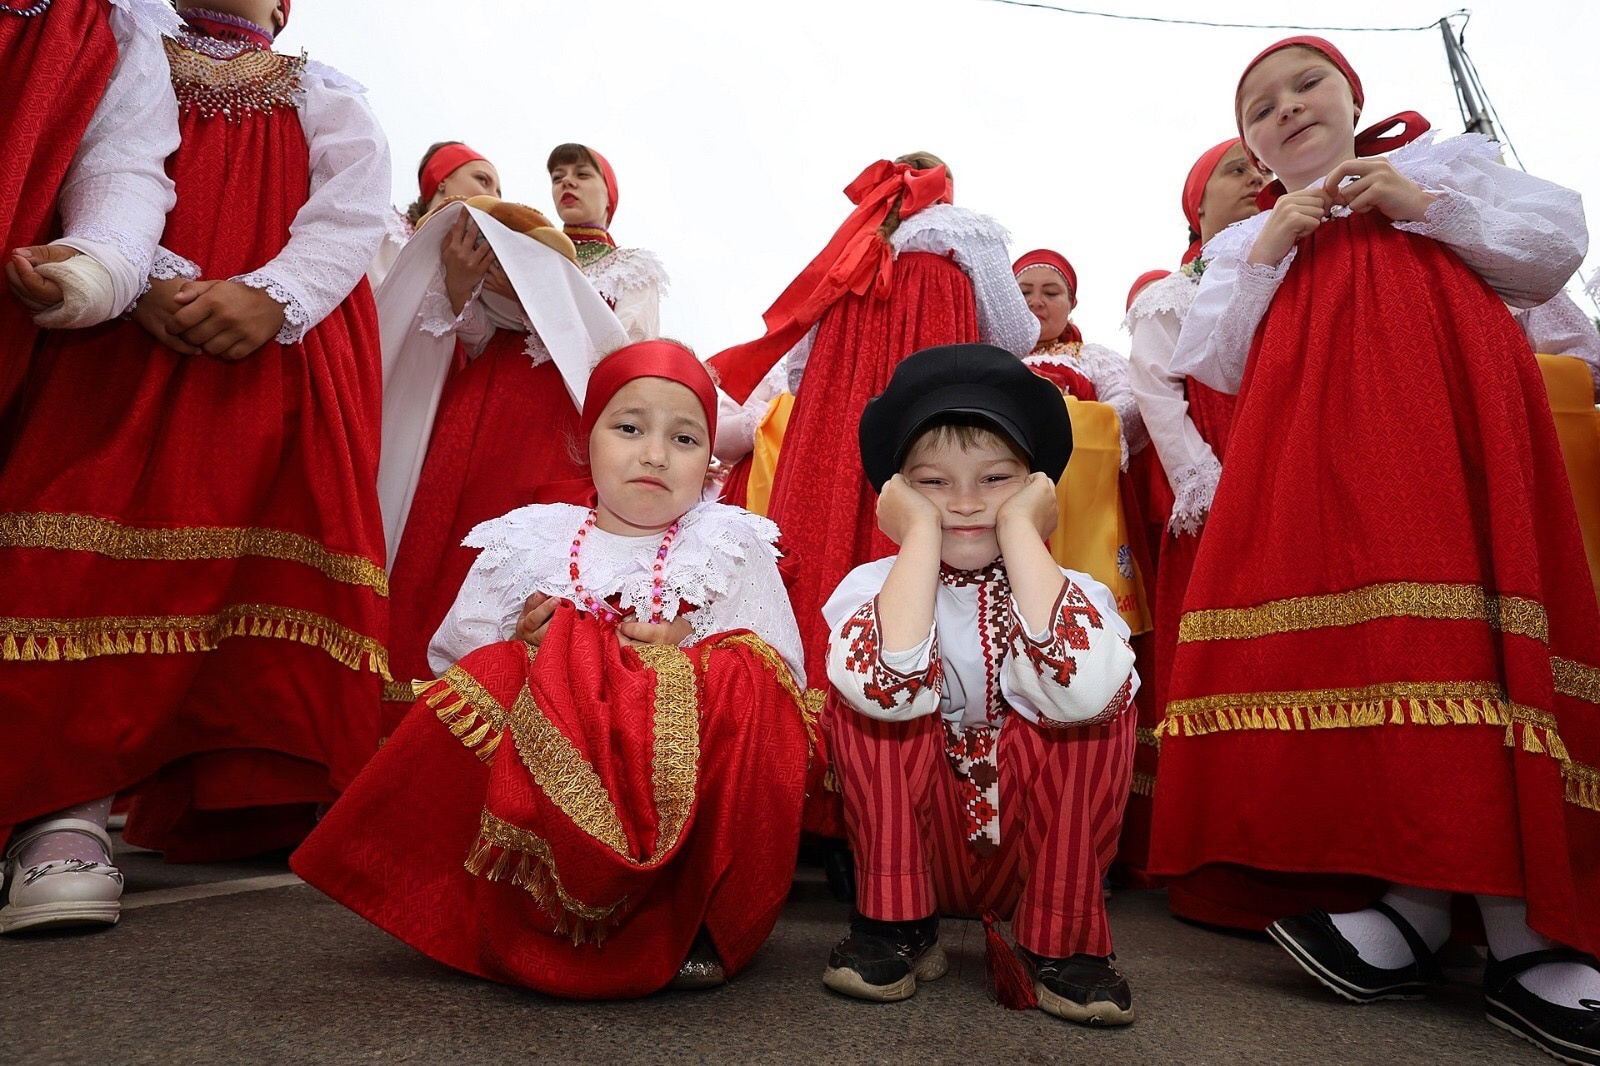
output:
<svg viewBox="0 0 1600 1066"><path fill-rule="evenodd" d="M1501 632L1550 642L1550 623L1536 600L1494 595L1475 584L1395 581L1349 592L1296 595L1259 607L1187 611L1178 643L1250 640L1286 632L1358 626L1382 618L1477 621Z"/></svg>

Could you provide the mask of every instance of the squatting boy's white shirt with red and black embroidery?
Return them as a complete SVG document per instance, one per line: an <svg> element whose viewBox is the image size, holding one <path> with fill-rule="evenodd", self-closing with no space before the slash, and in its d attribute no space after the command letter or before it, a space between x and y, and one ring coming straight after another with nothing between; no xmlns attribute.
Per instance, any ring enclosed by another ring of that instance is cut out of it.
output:
<svg viewBox="0 0 1600 1066"><path fill-rule="evenodd" d="M861 714L888 722L939 714L973 727L1000 725L1016 711L1046 727L1088 725L1122 714L1139 690L1115 597L1074 570L1061 571L1066 587L1040 631L1027 629L1003 583L946 571L928 637L885 651L877 597L893 565L891 555L856 567L822 605L827 677Z"/></svg>

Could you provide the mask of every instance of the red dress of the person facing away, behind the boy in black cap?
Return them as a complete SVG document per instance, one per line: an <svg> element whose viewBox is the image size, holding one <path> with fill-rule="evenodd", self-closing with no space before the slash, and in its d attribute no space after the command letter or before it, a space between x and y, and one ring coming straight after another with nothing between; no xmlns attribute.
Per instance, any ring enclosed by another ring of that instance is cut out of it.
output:
<svg viewBox="0 0 1600 1066"><path fill-rule="evenodd" d="M822 315L773 474L768 517L795 562L789 600L816 688L827 687L822 603L846 573L896 552L878 531L877 493L861 469L861 411L912 352L978 341L973 283L954 259L906 253L891 285L888 299L846 295ZM806 804L805 828L843 837L838 783L832 773L827 781Z"/></svg>

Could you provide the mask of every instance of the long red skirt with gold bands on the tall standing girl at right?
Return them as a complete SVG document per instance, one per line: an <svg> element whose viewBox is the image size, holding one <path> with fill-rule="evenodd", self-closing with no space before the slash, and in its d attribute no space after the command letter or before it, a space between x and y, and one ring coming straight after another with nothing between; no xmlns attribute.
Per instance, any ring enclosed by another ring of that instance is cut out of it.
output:
<svg viewBox="0 0 1600 1066"><path fill-rule="evenodd" d="M1600 948L1600 615L1539 368L1376 214L1258 330L1184 600L1154 869L1525 896Z"/></svg>

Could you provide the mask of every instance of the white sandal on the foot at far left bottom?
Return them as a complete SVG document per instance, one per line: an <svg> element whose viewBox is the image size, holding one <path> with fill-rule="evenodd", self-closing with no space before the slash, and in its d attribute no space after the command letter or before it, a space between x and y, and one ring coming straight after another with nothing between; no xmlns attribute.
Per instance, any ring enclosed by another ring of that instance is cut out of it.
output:
<svg viewBox="0 0 1600 1066"><path fill-rule="evenodd" d="M80 832L106 852L106 863L56 860L22 869L19 856L53 832ZM46 818L18 832L5 853L6 903L0 933L43 925L115 925L122 917L122 871L110 864L110 836L82 818Z"/></svg>

